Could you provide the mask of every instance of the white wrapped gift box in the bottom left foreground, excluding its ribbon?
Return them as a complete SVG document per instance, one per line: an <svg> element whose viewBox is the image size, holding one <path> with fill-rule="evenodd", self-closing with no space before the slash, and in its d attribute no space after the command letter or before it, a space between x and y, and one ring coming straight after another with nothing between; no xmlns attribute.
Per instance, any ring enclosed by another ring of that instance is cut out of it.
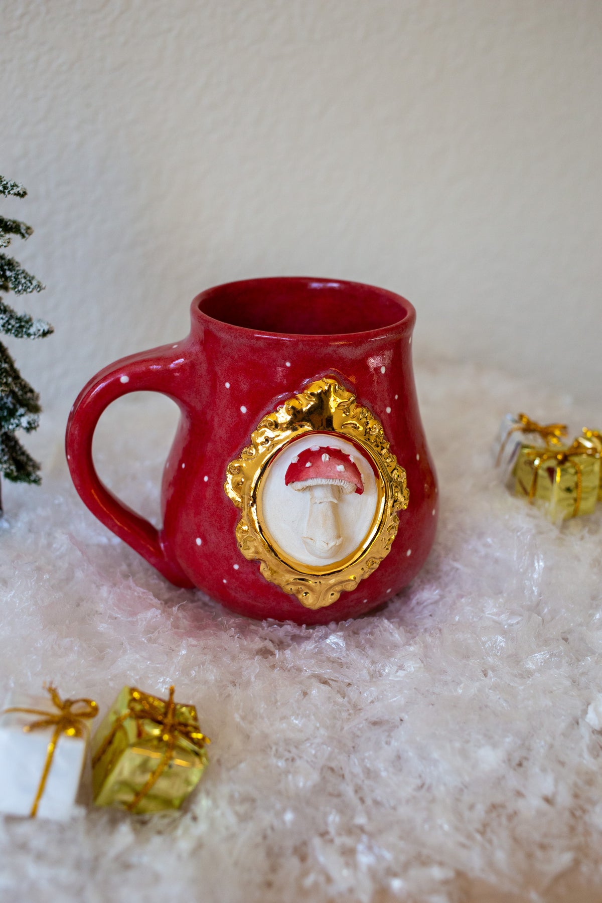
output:
<svg viewBox="0 0 602 903"><path fill-rule="evenodd" d="M51 697L9 694L0 714L0 812L31 815L40 787L54 727L23 731L43 719L30 712L5 712L5 709L37 709L56 715ZM86 757L89 739L87 721L82 721L82 737L61 733L51 760L37 815L65 821L69 818Z"/></svg>

